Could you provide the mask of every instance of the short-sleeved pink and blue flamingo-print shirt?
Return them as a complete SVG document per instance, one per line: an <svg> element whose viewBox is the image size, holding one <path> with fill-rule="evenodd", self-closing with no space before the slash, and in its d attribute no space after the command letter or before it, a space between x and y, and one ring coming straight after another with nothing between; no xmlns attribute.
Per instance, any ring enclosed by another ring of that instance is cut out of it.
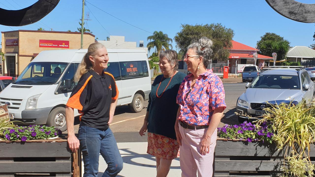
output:
<svg viewBox="0 0 315 177"><path fill-rule="evenodd" d="M179 87L176 97L180 105L178 120L193 126L209 125L214 110L226 108L223 83L210 69L199 75L190 91L192 78L192 74L187 75Z"/></svg>

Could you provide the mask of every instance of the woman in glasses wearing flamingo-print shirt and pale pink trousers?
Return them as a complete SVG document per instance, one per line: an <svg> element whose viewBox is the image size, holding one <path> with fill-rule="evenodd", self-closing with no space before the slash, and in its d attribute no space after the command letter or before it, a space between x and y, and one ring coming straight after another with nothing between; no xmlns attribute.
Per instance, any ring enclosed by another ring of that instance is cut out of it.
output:
<svg viewBox="0 0 315 177"><path fill-rule="evenodd" d="M180 144L182 177L212 176L217 127L226 108L221 79L207 66L211 63L212 41L201 37L188 46L184 61L191 72L181 83L175 123ZM194 160L192 160L192 158Z"/></svg>

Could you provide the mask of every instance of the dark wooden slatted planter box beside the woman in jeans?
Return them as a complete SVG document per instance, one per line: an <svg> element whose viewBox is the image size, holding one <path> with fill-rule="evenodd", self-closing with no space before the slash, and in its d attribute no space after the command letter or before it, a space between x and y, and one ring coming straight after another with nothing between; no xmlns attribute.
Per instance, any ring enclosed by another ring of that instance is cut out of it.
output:
<svg viewBox="0 0 315 177"><path fill-rule="evenodd" d="M81 154L67 140L0 140L0 176L81 176Z"/></svg>

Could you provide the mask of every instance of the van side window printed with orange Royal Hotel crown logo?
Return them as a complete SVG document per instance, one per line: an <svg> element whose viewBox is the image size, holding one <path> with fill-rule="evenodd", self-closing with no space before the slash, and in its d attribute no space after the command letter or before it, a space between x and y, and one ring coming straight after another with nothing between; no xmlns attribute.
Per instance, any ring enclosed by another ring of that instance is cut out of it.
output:
<svg viewBox="0 0 315 177"><path fill-rule="evenodd" d="M119 62L122 79L143 77L143 66L141 61Z"/></svg>

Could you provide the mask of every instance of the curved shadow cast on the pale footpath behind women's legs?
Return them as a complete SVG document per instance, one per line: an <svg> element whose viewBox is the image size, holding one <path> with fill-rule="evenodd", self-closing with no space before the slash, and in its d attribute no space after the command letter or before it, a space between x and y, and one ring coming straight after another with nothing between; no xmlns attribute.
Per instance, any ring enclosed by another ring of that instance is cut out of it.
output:
<svg viewBox="0 0 315 177"><path fill-rule="evenodd" d="M138 154L133 151L130 151L130 149L119 149L121 151L125 151L126 153L121 153L123 156L123 162L128 163L131 165L136 165L136 166L141 166L141 167L152 167L156 168L156 165L148 165L148 164L143 164L143 163L137 163L136 160L132 160L134 158L146 158L148 160L153 160L155 162L155 157L150 155L150 154ZM175 158L174 160L179 161L179 158ZM171 169L180 169L180 166L171 166Z"/></svg>

